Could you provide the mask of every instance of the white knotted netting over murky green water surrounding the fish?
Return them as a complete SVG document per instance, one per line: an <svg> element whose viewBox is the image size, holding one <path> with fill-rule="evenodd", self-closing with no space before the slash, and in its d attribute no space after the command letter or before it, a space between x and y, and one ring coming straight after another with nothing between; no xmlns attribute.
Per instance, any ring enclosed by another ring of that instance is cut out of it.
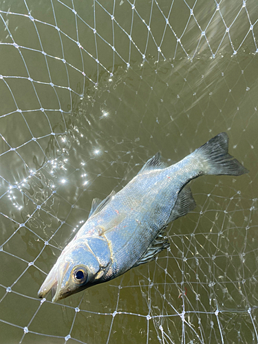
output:
<svg viewBox="0 0 258 344"><path fill-rule="evenodd" d="M3 1L0 343L258 343L257 1ZM92 199L221 131L250 170L191 182L171 246L53 304Z"/></svg>

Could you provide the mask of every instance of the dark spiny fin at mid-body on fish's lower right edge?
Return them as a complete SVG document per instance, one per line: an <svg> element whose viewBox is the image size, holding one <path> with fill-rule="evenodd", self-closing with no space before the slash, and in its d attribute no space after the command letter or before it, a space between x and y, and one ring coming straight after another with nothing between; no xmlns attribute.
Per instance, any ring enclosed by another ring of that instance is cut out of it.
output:
<svg viewBox="0 0 258 344"><path fill-rule="evenodd" d="M164 226L162 230L160 230L160 232L158 233L157 237L155 237L151 246L149 246L149 248L144 253L142 258L138 260L136 264L134 264L133 268L135 268L138 265L145 264L145 263L148 263L149 261L152 261L153 259L155 259L155 256L158 255L158 253L160 253L160 251L169 247L170 245L169 241L167 240L167 238L164 237L164 232L165 232L166 227L167 226Z"/></svg>

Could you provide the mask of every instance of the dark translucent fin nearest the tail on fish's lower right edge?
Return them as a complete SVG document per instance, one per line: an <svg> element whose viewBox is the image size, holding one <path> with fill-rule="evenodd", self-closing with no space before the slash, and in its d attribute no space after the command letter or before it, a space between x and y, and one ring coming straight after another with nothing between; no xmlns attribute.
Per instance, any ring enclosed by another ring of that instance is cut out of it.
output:
<svg viewBox="0 0 258 344"><path fill-rule="evenodd" d="M178 200L175 202L175 206L171 211L169 222L178 219L178 217L186 215L187 213L189 213L189 211L192 211L195 206L196 203L193 199L191 189L189 188L189 186L185 186L178 195Z"/></svg>

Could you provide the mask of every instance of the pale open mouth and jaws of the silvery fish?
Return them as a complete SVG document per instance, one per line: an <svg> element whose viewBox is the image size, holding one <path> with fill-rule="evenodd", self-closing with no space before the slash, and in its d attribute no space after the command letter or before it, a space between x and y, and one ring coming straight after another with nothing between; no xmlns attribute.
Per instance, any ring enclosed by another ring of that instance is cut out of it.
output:
<svg viewBox="0 0 258 344"><path fill-rule="evenodd" d="M52 292L52 302L56 302L66 297L61 294L61 285L65 272L67 272L68 268L69 262L65 261L63 264L57 264L56 262L56 264L50 270L50 273L47 275L41 288L39 288L38 297L40 299L46 297L50 290Z"/></svg>

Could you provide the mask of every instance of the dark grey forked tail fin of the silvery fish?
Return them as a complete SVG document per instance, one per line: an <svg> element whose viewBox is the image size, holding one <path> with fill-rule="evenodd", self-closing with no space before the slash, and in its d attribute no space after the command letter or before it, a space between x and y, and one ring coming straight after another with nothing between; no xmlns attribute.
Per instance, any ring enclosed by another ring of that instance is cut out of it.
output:
<svg viewBox="0 0 258 344"><path fill-rule="evenodd" d="M204 174L241 175L248 173L237 159L228 154L228 134L219 133L194 152L204 167Z"/></svg>

